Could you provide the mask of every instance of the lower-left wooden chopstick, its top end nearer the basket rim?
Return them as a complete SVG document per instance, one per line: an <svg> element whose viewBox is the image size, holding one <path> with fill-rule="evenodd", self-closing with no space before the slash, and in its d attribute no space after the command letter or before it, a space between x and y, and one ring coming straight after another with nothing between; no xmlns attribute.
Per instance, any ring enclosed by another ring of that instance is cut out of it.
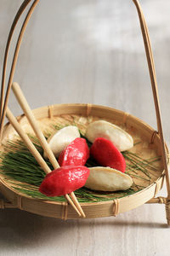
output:
<svg viewBox="0 0 170 256"><path fill-rule="evenodd" d="M17 133L20 135L20 137L22 138L24 143L26 143L26 147L30 150L31 154L35 157L38 164L42 167L42 170L46 174L51 172L51 170L49 169L45 160L43 160L41 154L39 154L39 152L37 151L37 148L31 142L31 139L26 135L25 131L22 129L22 127L20 126L17 119L15 119L14 114L9 110L9 108L7 108L6 116L9 120L10 124L13 125L14 130L17 131ZM66 198L67 201L69 201L71 206L77 211L78 215L81 216L81 213L79 212L79 210L77 209L77 207L75 206L73 201L71 201L71 198L69 197L69 195L65 195L65 198Z"/></svg>

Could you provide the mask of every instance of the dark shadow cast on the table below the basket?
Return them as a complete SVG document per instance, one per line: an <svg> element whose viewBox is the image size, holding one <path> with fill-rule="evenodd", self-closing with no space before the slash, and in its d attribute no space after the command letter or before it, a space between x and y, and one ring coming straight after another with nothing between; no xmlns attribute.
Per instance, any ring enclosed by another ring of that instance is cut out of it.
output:
<svg viewBox="0 0 170 256"><path fill-rule="evenodd" d="M163 229L167 228L167 224L138 222L136 220L129 221L117 218L96 218L96 219L75 219L61 220L57 218L46 218L30 212L21 212L18 209L8 209L0 211L0 247L35 247L41 246L43 241L55 241L56 244L66 237L74 239L73 234L77 234L78 230L88 230L90 228L100 229L101 226L105 230L109 227L122 229L130 227L131 229Z"/></svg>

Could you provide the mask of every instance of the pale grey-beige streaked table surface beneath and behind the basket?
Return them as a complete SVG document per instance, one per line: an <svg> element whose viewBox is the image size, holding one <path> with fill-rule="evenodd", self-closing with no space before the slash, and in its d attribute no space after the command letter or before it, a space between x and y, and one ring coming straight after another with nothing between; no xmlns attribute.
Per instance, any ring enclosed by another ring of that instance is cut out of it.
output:
<svg viewBox="0 0 170 256"><path fill-rule="evenodd" d="M169 146L170 2L140 2L150 30ZM1 73L9 27L21 3L0 0ZM26 29L14 81L31 108L91 102L132 113L156 129L144 44L132 0L40 0ZM9 106L15 114L21 113L12 94ZM166 195L165 187L160 195ZM170 230L166 223L165 207L157 204L116 218L67 221L0 210L0 255L167 256Z"/></svg>

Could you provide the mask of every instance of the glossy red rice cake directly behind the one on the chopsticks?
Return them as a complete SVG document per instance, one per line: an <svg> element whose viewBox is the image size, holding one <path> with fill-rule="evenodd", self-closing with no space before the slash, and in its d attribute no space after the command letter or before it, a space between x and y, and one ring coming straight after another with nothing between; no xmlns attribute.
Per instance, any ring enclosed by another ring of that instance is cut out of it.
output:
<svg viewBox="0 0 170 256"><path fill-rule="evenodd" d="M60 154L59 166L84 166L89 157L86 140L77 137Z"/></svg>

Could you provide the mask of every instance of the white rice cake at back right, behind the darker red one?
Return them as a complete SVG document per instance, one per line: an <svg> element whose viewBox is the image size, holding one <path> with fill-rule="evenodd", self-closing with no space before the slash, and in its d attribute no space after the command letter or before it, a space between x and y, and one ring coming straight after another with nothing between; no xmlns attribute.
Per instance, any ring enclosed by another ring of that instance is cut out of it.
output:
<svg viewBox="0 0 170 256"><path fill-rule="evenodd" d="M94 143L97 137L104 137L110 140L120 151L133 148L133 137L120 127L105 120L98 120L89 124L86 137L91 143Z"/></svg>

